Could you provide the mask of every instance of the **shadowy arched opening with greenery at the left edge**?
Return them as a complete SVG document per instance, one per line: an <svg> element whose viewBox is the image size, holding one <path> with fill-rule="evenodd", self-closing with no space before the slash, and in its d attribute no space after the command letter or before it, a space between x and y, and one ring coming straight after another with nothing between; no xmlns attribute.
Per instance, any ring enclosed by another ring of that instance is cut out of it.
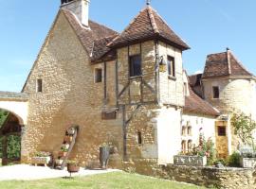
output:
<svg viewBox="0 0 256 189"><path fill-rule="evenodd" d="M20 163L22 127L20 117L0 109L0 158L3 165Z"/></svg>

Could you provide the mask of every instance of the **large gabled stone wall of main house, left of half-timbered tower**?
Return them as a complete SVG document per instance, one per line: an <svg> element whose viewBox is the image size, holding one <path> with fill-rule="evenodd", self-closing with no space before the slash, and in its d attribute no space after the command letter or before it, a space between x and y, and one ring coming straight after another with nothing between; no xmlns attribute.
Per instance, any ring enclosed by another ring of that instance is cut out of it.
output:
<svg viewBox="0 0 256 189"><path fill-rule="evenodd" d="M102 67L102 64L96 66ZM72 125L79 125L80 131L71 158L77 158L84 165L98 161L99 147L107 142L114 143L122 156L121 112L116 120L101 120L103 82L94 83L94 67L61 13L24 90L29 94L29 112L22 162L29 161L35 151L56 155L65 130ZM36 93L38 78L43 79L43 93ZM113 90L113 86L109 87Z"/></svg>

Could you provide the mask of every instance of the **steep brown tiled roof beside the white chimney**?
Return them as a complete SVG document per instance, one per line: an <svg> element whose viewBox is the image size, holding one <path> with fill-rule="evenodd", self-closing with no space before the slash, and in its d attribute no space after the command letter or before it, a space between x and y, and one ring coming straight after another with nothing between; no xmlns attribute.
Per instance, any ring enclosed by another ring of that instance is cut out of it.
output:
<svg viewBox="0 0 256 189"><path fill-rule="evenodd" d="M64 12L64 15L70 25L74 28L77 36L81 40L81 43L87 50L88 54L94 58L99 57L102 51L105 52L108 49L106 48L105 42L109 43L110 40L113 40L113 36L116 37L118 34L118 32L93 21L89 21L89 28L85 28L79 23L79 21L76 19L75 15L72 12L66 9L62 9L62 11ZM97 45L97 48L101 51L97 55L93 55L95 43ZM100 44L102 44L103 46L100 47Z"/></svg>

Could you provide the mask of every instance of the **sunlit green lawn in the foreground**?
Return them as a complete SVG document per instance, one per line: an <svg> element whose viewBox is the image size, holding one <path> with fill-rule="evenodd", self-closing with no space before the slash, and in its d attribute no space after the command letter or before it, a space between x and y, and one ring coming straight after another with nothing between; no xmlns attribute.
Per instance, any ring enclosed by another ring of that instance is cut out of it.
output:
<svg viewBox="0 0 256 189"><path fill-rule="evenodd" d="M26 170L25 170L26 171ZM0 188L8 189L202 189L198 186L158 180L122 172L75 179L0 181Z"/></svg>

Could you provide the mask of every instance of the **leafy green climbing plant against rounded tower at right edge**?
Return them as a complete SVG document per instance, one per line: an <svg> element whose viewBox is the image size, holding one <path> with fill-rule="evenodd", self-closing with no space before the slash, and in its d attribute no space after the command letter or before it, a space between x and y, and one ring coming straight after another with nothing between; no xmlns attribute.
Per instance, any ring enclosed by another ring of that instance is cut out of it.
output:
<svg viewBox="0 0 256 189"><path fill-rule="evenodd" d="M253 130L256 129L256 122L251 120L244 112L234 112L231 117L231 124L234 133L239 137L243 144L254 145Z"/></svg>

